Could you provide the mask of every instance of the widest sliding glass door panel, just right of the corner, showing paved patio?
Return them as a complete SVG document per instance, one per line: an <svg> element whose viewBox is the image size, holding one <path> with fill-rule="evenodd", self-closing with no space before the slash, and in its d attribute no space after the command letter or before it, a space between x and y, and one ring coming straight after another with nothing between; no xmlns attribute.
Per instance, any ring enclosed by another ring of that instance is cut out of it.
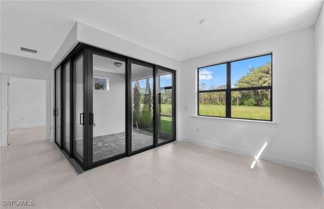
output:
<svg viewBox="0 0 324 209"><path fill-rule="evenodd" d="M92 166L126 155L126 59L88 50L88 153Z"/></svg>

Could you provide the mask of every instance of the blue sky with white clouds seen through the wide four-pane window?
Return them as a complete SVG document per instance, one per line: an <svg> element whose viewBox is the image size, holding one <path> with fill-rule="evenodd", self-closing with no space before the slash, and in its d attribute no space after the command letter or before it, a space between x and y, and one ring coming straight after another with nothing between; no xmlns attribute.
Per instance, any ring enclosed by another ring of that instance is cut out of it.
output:
<svg viewBox="0 0 324 209"><path fill-rule="evenodd" d="M266 55L262 57L256 57L246 60L240 60L231 63L231 86L234 83L250 72L251 67L259 67L271 62L271 55ZM204 67L199 69L199 85L201 83L206 83L208 90L210 86L219 87L221 85L226 85L226 64L214 65L210 67Z"/></svg>

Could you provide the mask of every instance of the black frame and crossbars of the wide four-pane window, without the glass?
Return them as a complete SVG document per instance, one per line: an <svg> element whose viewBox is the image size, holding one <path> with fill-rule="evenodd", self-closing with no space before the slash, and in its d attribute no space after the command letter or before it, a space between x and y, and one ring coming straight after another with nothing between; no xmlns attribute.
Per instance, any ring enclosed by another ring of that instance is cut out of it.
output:
<svg viewBox="0 0 324 209"><path fill-rule="evenodd" d="M252 58L257 57L263 57L271 55L271 86L261 86L261 87L245 87L245 88L231 88L231 63L242 61L242 60L248 60ZM272 53L262 54L254 57L248 57L244 59L238 59L238 60L232 60L228 62L222 62L218 64L208 65L204 67L198 67L197 68L197 115L198 116L206 116L206 117L217 117L217 118L232 118L232 119L242 119L242 120L259 120L259 121L272 121L272 87L273 87L273 55ZM199 90L199 70L201 68L216 66L216 65L223 65L226 64L226 89L215 89L215 90ZM270 90L270 120L264 120L264 119L253 119L253 118L239 118L239 117L232 117L232 102L231 102L231 93L236 91L251 91L251 90ZM213 115L201 115L199 114L199 93L215 93L215 92L225 92L226 93L226 100L225 100L225 117L223 116L213 116Z"/></svg>

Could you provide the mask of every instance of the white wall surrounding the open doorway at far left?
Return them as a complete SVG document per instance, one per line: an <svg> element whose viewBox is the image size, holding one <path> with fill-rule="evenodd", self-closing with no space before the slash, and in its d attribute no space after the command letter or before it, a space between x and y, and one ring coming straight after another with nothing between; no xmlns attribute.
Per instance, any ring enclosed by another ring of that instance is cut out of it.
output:
<svg viewBox="0 0 324 209"><path fill-rule="evenodd" d="M8 86L11 77L33 78L46 80L46 139L50 139L51 130L51 63L34 60L14 55L0 54L1 56L1 145L7 146L7 106L8 106Z"/></svg>

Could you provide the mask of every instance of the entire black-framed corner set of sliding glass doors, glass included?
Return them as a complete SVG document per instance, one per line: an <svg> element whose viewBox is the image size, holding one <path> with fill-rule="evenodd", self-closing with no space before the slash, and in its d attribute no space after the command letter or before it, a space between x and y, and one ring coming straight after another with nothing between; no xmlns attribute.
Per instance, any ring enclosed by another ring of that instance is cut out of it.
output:
<svg viewBox="0 0 324 209"><path fill-rule="evenodd" d="M55 142L76 170L176 139L175 71L79 44L55 70Z"/></svg>

